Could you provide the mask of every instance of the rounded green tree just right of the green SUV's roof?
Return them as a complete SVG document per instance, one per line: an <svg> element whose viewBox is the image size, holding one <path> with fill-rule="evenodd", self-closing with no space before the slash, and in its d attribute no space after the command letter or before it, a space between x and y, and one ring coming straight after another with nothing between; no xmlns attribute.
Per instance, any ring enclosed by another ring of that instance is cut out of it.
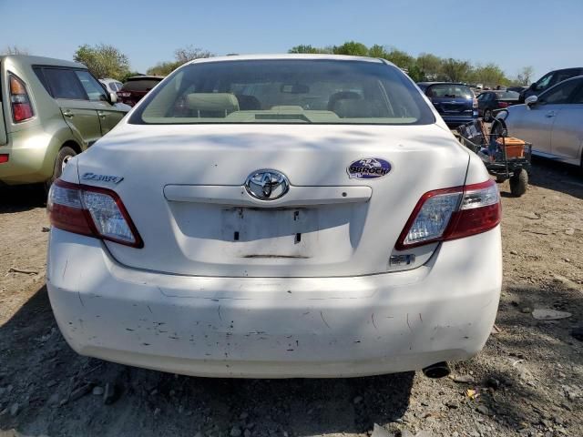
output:
<svg viewBox="0 0 583 437"><path fill-rule="evenodd" d="M118 48L105 44L79 46L73 59L85 64L97 78L121 79L129 71L128 56L121 53Z"/></svg>

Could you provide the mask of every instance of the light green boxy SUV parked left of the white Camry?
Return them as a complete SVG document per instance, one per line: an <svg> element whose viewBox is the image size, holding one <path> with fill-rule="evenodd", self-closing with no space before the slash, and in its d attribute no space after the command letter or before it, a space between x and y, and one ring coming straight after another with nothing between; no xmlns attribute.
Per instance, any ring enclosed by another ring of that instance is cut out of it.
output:
<svg viewBox="0 0 583 437"><path fill-rule="evenodd" d="M0 56L0 186L50 185L129 109L82 64Z"/></svg>

